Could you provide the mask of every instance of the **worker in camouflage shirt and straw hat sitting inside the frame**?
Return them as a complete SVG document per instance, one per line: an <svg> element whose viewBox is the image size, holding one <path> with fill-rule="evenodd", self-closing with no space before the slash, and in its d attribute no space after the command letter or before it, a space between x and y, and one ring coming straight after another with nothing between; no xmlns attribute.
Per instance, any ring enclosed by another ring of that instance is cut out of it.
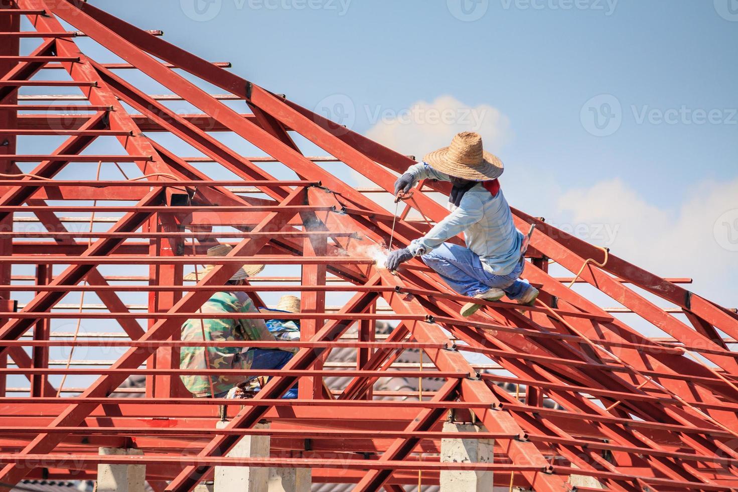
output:
<svg viewBox="0 0 738 492"><path fill-rule="evenodd" d="M207 256L227 256L230 245L217 245L207 250ZM207 264L184 277L185 280L200 281L217 265ZM182 324L182 341L275 341L266 322L257 318L218 318L218 313L259 312L254 303L241 290L229 290L240 286L249 277L264 269L263 264L246 264L236 270L227 281L226 287L213 293L201 307L201 312L214 313L213 318L188 319ZM244 344L246 345L246 344ZM292 358L292 347L277 348L249 346L187 346L180 349L180 369L281 369ZM228 391L242 383L243 375L221 375L217 377L182 375L182 383L196 397L225 397Z"/></svg>

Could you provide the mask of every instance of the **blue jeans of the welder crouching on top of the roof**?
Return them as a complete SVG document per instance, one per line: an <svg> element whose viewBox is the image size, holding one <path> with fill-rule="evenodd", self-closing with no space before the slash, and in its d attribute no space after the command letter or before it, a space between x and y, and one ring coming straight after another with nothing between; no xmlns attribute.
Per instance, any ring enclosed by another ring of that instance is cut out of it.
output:
<svg viewBox="0 0 738 492"><path fill-rule="evenodd" d="M502 289L511 299L523 298L531 284L519 280L523 273L523 258L507 275L494 275L482 267L482 261L468 247L452 245L448 242L421 256L423 262L435 270L446 284L462 295L474 297L485 293L492 287Z"/></svg>

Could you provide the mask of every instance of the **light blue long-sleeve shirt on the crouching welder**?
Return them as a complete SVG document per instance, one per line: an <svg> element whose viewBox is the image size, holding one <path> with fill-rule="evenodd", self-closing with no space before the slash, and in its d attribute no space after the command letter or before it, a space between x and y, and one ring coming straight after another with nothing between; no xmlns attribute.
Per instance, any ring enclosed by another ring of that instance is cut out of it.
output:
<svg viewBox="0 0 738 492"><path fill-rule="evenodd" d="M405 172L413 174L415 182L424 179L450 181L448 174L426 163L411 165ZM449 203L449 210L451 213L425 236L410 243L410 253L414 256L430 253L463 232L466 247L479 255L490 273L506 275L520 262L523 233L515 228L510 205L501 189L493 197L479 182L466 191L458 207Z"/></svg>

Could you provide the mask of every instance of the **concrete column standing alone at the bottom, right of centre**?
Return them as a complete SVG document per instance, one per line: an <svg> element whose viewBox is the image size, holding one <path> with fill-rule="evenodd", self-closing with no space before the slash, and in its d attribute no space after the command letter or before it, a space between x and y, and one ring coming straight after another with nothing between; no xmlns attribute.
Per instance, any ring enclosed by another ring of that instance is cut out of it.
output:
<svg viewBox="0 0 738 492"><path fill-rule="evenodd" d="M444 432L481 432L475 424L446 422ZM441 462L492 463L494 440L441 439ZM489 492L494 488L492 471L442 470L441 492Z"/></svg>

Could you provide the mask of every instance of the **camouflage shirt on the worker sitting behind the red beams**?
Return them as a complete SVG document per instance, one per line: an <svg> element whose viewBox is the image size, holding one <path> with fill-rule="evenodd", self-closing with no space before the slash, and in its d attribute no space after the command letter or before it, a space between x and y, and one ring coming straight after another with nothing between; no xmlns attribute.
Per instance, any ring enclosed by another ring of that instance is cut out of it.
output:
<svg viewBox="0 0 738 492"><path fill-rule="evenodd" d="M217 292L202 305L202 312L258 312L246 293ZM275 340L269 333L263 319L210 318L188 319L182 325L182 340L206 341L249 341ZM266 348L266 347L263 347ZM247 352L248 346L183 346L180 349L180 369L249 369L253 355ZM207 353L207 358L206 358ZM208 364L209 363L209 364ZM182 375L182 383L196 397L210 396L210 377ZM224 375L213 377L213 392L226 392L246 380L244 375Z"/></svg>

